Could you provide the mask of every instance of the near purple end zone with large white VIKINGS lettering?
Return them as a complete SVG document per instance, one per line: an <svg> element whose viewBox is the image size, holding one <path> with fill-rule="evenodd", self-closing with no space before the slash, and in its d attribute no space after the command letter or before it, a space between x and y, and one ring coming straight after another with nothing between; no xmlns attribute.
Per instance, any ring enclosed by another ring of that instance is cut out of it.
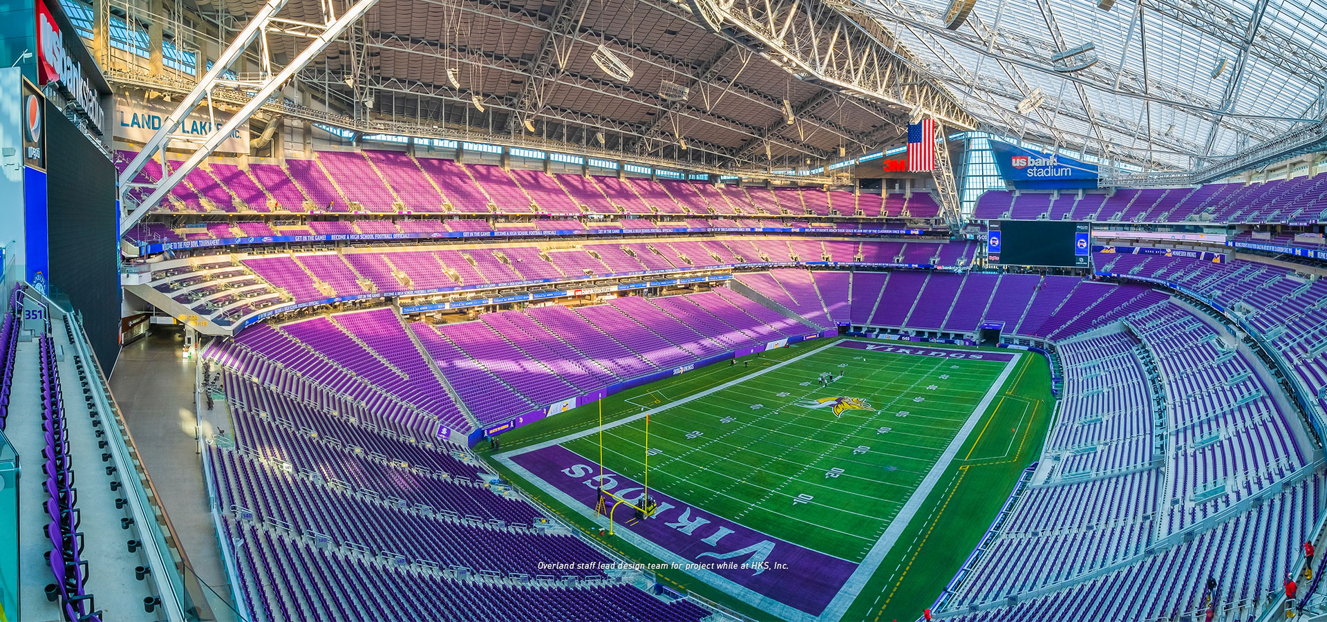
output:
<svg viewBox="0 0 1327 622"><path fill-rule="evenodd" d="M511 456L511 462L588 508L594 508L598 463L563 446L518 454ZM605 491L624 499L636 499L642 491L637 481L606 468L602 484ZM632 508L621 505L613 516L617 529L629 529L681 556L687 564L713 564L709 570L715 574L811 615L820 615L857 568L851 561L766 536L693 508L660 491L652 489L650 496L658 503L654 516L633 523ZM762 562L767 565L764 569L738 568L743 564L759 566ZM735 568L722 568L721 564Z"/></svg>

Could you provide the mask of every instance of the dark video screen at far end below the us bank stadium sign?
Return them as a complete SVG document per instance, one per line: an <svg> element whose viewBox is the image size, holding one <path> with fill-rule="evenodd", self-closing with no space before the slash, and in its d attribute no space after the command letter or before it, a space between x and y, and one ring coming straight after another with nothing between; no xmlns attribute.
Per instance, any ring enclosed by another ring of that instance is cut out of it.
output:
<svg viewBox="0 0 1327 622"><path fill-rule="evenodd" d="M1091 249L1087 223L1001 220L986 240L987 261L1005 265L1085 268Z"/></svg>

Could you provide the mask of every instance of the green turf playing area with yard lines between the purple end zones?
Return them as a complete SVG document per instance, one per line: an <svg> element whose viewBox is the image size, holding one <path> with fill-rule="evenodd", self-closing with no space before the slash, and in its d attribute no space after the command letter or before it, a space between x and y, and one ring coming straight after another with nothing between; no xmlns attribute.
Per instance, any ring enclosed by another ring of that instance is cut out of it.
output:
<svg viewBox="0 0 1327 622"><path fill-rule="evenodd" d="M1005 365L823 347L650 416L649 485L861 561ZM820 386L821 373L839 379ZM835 416L817 402L839 397L865 408ZM654 403L650 394L634 402ZM605 467L644 479L645 419L602 440ZM563 447L597 460L598 442L593 434Z"/></svg>

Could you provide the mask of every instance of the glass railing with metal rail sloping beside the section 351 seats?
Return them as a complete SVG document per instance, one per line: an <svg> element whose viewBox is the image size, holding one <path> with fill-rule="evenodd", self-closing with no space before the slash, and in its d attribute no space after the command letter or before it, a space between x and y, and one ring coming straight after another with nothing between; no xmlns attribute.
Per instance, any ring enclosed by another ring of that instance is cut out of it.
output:
<svg viewBox="0 0 1327 622"><path fill-rule="evenodd" d="M69 312L69 301L60 292L53 292L52 302L60 309L60 316L68 316L73 322L73 354L84 361L96 361L96 355L88 343L88 337L82 329L82 318L78 312ZM53 314L54 316L54 314ZM64 321L64 317L52 317L53 321ZM179 537L161 505L159 495L153 487L151 477L138 456L129 426L115 403L114 397L101 373L100 365L90 365L89 378L94 406L107 414L109 430L118 434L107 435L109 451L117 468L123 476L122 495L129 500L133 525L138 530L139 554L145 565L150 568L150 576L157 581L161 606L166 611L166 618L171 621L218 621L243 622L245 618L232 605L230 585L212 586L204 582L194 572L179 546ZM9 618L15 619L15 618Z"/></svg>

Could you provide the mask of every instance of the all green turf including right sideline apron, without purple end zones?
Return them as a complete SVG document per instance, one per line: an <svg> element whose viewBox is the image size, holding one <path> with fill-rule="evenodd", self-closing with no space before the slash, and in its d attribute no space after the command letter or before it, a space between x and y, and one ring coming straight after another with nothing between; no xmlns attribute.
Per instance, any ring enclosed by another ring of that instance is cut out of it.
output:
<svg viewBox="0 0 1327 622"><path fill-rule="evenodd" d="M841 378L823 387L821 373ZM995 386L1002 373L1006 379ZM652 489L852 562L861 562L888 540L882 558L877 550L869 560L874 572L841 619L914 619L975 546L1022 468L1039 454L1052 410L1048 389L1044 359L1028 353L1006 363L811 342L746 357L736 366L695 370L536 422L503 434L502 452L557 442L597 462L602 408L605 423L626 419L604 428L604 464L640 481L645 477L645 419L638 414L653 410ZM857 398L865 407L844 408L835 416L832 398ZM918 492L983 401L975 427L940 479L933 476L929 488ZM499 471L512 475L502 466ZM653 561L621 540L598 536L593 520L536 485L518 485L628 557ZM916 513L894 521L913 496ZM886 530L890 538L882 538ZM725 601L722 590L683 572L666 570L661 577L754 618L770 618Z"/></svg>

